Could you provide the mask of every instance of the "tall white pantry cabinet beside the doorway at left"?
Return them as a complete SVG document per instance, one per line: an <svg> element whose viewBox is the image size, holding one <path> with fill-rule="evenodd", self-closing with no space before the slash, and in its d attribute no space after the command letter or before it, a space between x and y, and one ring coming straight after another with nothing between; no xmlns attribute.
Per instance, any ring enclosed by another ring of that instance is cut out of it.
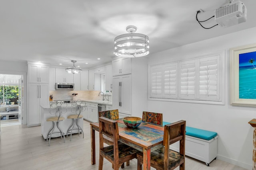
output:
<svg viewBox="0 0 256 170"><path fill-rule="evenodd" d="M28 127L40 125L40 106L49 106L49 66L28 63Z"/></svg>

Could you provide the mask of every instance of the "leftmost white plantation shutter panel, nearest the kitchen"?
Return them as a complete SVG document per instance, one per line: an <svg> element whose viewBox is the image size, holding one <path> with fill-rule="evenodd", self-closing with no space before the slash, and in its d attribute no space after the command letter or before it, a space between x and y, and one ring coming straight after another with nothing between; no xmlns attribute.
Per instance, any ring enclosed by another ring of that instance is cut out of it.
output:
<svg viewBox="0 0 256 170"><path fill-rule="evenodd" d="M162 96L162 65L150 67L150 97Z"/></svg>

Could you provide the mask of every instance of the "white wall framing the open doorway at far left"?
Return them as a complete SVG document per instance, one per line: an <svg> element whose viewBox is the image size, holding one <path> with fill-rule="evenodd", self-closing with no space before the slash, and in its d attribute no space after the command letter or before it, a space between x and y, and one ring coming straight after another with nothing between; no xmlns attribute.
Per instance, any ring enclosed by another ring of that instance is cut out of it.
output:
<svg viewBox="0 0 256 170"><path fill-rule="evenodd" d="M23 103L23 121L24 125L27 124L27 64L26 62L16 62L16 61L0 61L0 74L17 74L23 75L24 82L24 103Z"/></svg>

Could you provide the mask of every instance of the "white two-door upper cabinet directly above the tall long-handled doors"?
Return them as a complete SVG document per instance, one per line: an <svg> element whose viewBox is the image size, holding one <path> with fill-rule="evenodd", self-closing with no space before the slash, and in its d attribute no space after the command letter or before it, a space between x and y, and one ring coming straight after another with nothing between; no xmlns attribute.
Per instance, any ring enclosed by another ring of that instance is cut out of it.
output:
<svg viewBox="0 0 256 170"><path fill-rule="evenodd" d="M112 75L119 76L132 73L132 59L119 58L112 60Z"/></svg>

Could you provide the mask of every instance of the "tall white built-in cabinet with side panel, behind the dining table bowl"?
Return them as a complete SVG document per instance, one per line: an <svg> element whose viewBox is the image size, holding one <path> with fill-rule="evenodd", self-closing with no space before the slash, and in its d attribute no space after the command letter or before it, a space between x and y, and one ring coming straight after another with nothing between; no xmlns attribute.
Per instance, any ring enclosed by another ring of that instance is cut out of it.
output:
<svg viewBox="0 0 256 170"><path fill-rule="evenodd" d="M147 111L148 61L146 57L112 61L112 109L120 115L142 117Z"/></svg>

